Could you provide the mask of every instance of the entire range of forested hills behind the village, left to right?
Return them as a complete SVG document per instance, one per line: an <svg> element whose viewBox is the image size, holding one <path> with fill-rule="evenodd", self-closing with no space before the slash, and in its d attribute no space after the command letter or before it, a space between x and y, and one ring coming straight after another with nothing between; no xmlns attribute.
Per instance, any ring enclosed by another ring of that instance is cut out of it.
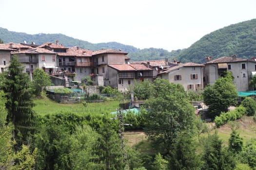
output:
<svg viewBox="0 0 256 170"><path fill-rule="evenodd" d="M195 62L204 63L205 57L213 56L213 59L222 56L236 54L239 58L251 58L256 56L256 19L233 24L210 34L203 36L200 40L192 44L188 49L167 51L164 49L138 49L130 45L118 42L93 44L88 41L75 39L63 34L25 34L8 31L0 28L0 39L4 43L14 42L27 43L35 42L42 44L45 42L59 43L66 47L78 46L89 50L115 49L128 52L132 61L158 60L174 58L182 63Z"/></svg>

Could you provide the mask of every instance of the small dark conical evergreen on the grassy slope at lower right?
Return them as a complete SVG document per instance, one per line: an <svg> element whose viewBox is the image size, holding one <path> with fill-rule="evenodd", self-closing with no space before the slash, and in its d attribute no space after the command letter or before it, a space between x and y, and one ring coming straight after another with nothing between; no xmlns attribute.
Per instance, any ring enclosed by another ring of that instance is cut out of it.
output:
<svg viewBox="0 0 256 170"><path fill-rule="evenodd" d="M242 151L243 138L239 136L236 130L232 130L229 138L229 151L239 153Z"/></svg>

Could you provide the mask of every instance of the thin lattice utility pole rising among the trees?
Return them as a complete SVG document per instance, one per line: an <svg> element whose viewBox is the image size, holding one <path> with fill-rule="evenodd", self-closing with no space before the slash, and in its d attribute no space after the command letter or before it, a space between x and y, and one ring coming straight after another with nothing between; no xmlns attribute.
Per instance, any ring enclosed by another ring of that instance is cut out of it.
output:
<svg viewBox="0 0 256 170"><path fill-rule="evenodd" d="M127 158L127 152L125 149L125 142L124 142L124 124L123 124L123 113L121 112L120 108L117 108L117 117L118 117L118 125L119 125L119 137L121 141L121 151L123 156L123 163L125 164L125 170L129 170L128 165L128 158Z"/></svg>

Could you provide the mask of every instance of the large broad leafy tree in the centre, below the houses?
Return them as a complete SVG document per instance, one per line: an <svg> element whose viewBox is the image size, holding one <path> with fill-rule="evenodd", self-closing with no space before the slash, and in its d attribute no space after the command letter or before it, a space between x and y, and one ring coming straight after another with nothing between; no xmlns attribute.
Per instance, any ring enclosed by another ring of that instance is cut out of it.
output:
<svg viewBox="0 0 256 170"><path fill-rule="evenodd" d="M158 143L161 152L169 154L178 134L194 128L195 110L186 98L182 85L156 79L151 88L152 98L145 103L145 133Z"/></svg>

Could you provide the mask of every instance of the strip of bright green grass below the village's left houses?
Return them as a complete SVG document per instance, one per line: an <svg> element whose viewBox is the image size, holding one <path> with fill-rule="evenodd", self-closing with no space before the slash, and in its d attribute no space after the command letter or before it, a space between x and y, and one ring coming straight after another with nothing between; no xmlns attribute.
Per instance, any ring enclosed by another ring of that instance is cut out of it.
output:
<svg viewBox="0 0 256 170"><path fill-rule="evenodd" d="M84 107L82 103L62 104L54 102L48 98L35 99L34 103L36 104L36 106L33 107L33 110L39 115L56 114L61 112L71 112L81 115L86 113L110 113L114 112L115 109L119 107L118 101L87 103L86 107Z"/></svg>

